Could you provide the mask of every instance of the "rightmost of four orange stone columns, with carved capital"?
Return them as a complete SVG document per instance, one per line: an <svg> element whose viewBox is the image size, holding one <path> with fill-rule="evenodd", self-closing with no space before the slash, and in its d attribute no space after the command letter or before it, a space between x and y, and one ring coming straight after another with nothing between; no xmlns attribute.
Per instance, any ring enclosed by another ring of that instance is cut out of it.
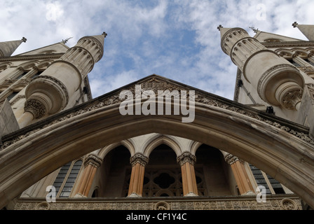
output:
<svg viewBox="0 0 314 224"><path fill-rule="evenodd" d="M230 165L232 169L240 194L247 195L254 193L253 186L250 182L249 176L247 176L243 162L230 153L224 153L224 160L228 163L228 165Z"/></svg>

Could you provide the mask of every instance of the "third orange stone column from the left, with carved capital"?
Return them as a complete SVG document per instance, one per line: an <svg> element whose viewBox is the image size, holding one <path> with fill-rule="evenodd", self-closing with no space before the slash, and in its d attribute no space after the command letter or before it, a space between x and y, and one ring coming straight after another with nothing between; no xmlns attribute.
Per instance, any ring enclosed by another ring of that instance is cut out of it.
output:
<svg viewBox="0 0 314 224"><path fill-rule="evenodd" d="M198 196L198 186L194 170L196 156L189 152L184 152L177 157L177 162L181 166L183 195Z"/></svg>

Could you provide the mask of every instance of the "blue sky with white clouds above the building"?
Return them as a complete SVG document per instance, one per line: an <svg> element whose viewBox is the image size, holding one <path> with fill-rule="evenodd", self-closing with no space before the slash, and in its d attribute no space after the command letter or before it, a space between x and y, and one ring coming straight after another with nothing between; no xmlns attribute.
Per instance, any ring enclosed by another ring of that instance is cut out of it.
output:
<svg viewBox="0 0 314 224"><path fill-rule="evenodd" d="M218 25L306 40L292 23L314 24L313 0L0 0L0 41L27 38L17 55L106 31L90 72L93 97L153 73L233 99L236 66Z"/></svg>

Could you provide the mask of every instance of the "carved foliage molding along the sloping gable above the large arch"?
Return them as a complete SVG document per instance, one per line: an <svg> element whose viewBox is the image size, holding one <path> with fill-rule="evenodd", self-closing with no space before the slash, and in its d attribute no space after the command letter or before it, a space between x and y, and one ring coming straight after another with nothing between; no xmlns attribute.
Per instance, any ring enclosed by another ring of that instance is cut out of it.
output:
<svg viewBox="0 0 314 224"><path fill-rule="evenodd" d="M158 85L156 83L158 83ZM161 78L157 78L155 76L149 78L149 80L139 82L139 84L144 84L142 85L143 90L155 90L156 88L158 90L178 90L178 89L180 90L184 88L185 90L191 89L191 87L175 85L173 83L167 82L166 80L162 80ZM163 85L165 85L163 89L158 88ZM104 96L98 97L97 99L93 99L90 102L80 104L74 109L64 111L64 113L60 113L60 115L50 117L46 121L43 121L42 123L38 123L36 125L34 124L34 127L32 127L32 125L29 125L29 127L26 127L24 130L20 130L13 134L8 134L8 136L6 136L5 138L3 137L2 139L3 144L1 148L4 149L17 141L24 139L25 137L29 136L29 134L35 134L36 132L39 132L43 128L55 125L64 120L80 116L83 113L88 113L90 111L102 109L105 106L119 104L123 102L123 99L119 98L120 91L122 90L130 90L132 92L135 92L135 86L132 85L129 87L124 87L117 90L117 92L115 93L105 94ZM234 113L239 113L243 116L259 120L260 122L266 123L273 127L280 128L280 130L288 132L289 134L293 134L302 141L306 141L308 144L314 145L314 139L310 137L308 127L297 124L289 124L289 121L285 119L270 116L269 114L266 113L264 114L261 111L250 108L249 106L244 106L243 104L239 104L237 102L231 102L228 99L215 96L202 90L196 90L195 97L196 103L214 106L220 109L224 109L226 111L232 111Z"/></svg>

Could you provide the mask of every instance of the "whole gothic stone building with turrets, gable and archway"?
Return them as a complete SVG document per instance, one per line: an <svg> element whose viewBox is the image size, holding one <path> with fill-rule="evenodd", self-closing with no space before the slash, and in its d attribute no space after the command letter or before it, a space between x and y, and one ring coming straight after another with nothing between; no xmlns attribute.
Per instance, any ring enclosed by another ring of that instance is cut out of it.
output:
<svg viewBox="0 0 314 224"><path fill-rule="evenodd" d="M293 26L308 41L218 27L233 100L155 74L93 99L105 33L1 42L1 209L314 207L314 28Z"/></svg>

